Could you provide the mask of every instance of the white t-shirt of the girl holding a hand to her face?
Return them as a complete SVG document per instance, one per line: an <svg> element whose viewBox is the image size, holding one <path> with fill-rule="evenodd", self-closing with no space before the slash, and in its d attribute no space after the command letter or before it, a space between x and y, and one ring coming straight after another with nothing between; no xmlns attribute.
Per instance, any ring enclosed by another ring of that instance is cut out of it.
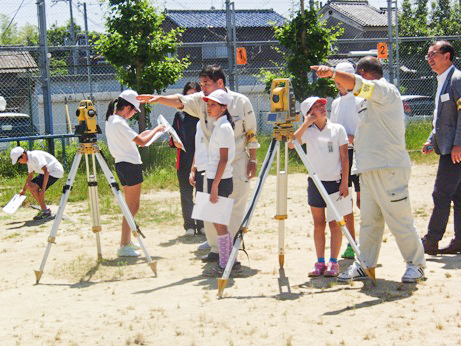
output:
<svg viewBox="0 0 461 346"><path fill-rule="evenodd" d="M323 130L320 131L315 124L312 124L303 133L301 140L306 143L307 157L320 180L340 180L339 147L349 142L344 127L327 121Z"/></svg>

